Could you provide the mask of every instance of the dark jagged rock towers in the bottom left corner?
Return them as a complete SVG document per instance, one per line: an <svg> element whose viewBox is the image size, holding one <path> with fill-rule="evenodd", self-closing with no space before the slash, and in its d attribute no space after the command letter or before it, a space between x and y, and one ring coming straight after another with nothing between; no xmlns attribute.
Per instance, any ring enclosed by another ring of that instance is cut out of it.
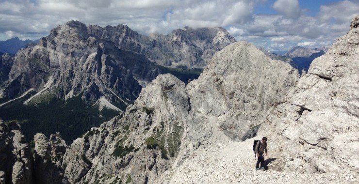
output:
<svg viewBox="0 0 359 184"><path fill-rule="evenodd" d="M0 184L31 184L31 150L16 122L0 120Z"/></svg>

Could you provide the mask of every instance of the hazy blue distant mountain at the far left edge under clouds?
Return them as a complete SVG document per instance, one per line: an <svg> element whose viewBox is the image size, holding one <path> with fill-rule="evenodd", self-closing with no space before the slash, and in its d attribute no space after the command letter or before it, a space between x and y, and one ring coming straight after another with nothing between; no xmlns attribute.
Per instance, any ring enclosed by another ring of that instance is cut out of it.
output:
<svg viewBox="0 0 359 184"><path fill-rule="evenodd" d="M21 48L24 48L26 45L30 43L38 43L37 41L32 40L25 40L22 41L18 37L6 40L6 41L0 41L0 52L3 53L9 53L9 54L16 54L18 50Z"/></svg>

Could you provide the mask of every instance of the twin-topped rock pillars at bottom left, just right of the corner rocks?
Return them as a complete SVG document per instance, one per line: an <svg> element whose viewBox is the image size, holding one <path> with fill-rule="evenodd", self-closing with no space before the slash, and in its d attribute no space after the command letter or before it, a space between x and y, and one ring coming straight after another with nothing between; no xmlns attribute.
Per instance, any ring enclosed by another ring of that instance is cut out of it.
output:
<svg viewBox="0 0 359 184"><path fill-rule="evenodd" d="M62 167L67 145L60 133L48 139L44 134L34 136L34 176L37 184L66 184L65 170Z"/></svg>

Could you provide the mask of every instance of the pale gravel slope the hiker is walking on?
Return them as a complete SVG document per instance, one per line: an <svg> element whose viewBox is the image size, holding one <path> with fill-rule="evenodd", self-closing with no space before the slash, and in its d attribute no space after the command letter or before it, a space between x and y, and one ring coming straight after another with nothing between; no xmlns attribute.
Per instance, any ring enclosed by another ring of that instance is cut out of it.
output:
<svg viewBox="0 0 359 184"><path fill-rule="evenodd" d="M356 175L340 173L303 174L268 169L255 170L251 152L253 140L228 142L212 148L199 148L179 168L164 176L164 184L359 184ZM200 154L199 154L200 153ZM274 160L275 155L265 158ZM277 158L276 158L277 159ZM270 165L269 165L270 167ZM171 176L172 175L172 176Z"/></svg>

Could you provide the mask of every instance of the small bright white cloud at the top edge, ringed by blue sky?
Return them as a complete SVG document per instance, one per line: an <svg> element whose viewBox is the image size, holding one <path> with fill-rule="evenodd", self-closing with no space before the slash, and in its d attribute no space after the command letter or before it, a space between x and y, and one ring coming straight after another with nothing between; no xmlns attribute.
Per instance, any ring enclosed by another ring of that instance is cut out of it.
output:
<svg viewBox="0 0 359 184"><path fill-rule="evenodd" d="M277 0L273 8L289 18L298 18L300 15L298 0Z"/></svg>

